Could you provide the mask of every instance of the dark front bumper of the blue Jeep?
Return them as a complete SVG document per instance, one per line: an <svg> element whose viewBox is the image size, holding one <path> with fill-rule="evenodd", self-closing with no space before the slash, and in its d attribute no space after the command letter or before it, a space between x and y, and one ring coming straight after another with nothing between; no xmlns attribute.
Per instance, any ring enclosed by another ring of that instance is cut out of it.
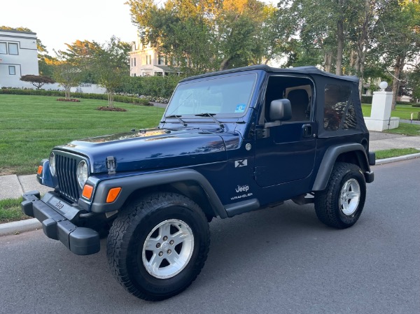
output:
<svg viewBox="0 0 420 314"><path fill-rule="evenodd" d="M90 228L77 227L70 220L79 210L60 199L54 192L48 192L40 199L38 191L23 194L22 212L35 217L42 223L48 238L59 240L76 255L90 255L99 252L99 234Z"/></svg>

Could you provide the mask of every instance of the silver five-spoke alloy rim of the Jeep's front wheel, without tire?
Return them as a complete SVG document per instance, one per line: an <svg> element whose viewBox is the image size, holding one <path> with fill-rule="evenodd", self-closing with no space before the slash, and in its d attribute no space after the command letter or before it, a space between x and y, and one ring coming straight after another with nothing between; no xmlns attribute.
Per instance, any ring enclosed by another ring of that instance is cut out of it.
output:
<svg viewBox="0 0 420 314"><path fill-rule="evenodd" d="M151 276L167 279L176 276L190 262L194 250L194 235L182 220L160 222L144 241L142 259Z"/></svg>

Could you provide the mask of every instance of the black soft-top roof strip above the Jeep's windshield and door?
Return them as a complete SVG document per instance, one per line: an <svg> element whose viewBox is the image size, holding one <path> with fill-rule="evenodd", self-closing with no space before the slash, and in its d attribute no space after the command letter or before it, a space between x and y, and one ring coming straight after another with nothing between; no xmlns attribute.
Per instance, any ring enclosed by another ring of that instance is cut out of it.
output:
<svg viewBox="0 0 420 314"><path fill-rule="evenodd" d="M218 76L220 74L225 74L225 73L237 73L237 72L251 71L251 70L263 70L263 71L267 71L271 73L312 74L312 75L316 74L319 76L336 78L337 80L347 80L353 83L358 83L359 81L357 76L337 76L332 73L321 71L320 69L316 68L316 66L298 66L296 68L279 69L279 68L273 68L272 66L267 66L265 64L260 64L256 66L244 66L242 68L237 68L237 69L205 73L199 76L191 76L190 78L184 78L183 80L181 80L181 82L185 82L187 80L195 80L197 78L207 78L209 76Z"/></svg>

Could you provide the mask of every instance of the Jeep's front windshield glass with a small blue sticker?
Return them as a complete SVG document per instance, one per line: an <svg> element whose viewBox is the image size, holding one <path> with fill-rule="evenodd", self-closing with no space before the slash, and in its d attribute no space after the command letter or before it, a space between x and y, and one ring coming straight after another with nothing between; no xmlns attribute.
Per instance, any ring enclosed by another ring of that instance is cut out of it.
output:
<svg viewBox="0 0 420 314"><path fill-rule="evenodd" d="M212 77L181 83L175 90L165 113L171 115L242 116L251 101L255 73Z"/></svg>

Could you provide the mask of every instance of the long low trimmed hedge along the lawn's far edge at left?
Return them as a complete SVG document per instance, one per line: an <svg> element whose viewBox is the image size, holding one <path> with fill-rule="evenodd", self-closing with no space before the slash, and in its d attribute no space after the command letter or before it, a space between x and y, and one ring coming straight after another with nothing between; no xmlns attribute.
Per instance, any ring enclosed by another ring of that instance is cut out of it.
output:
<svg viewBox="0 0 420 314"><path fill-rule="evenodd" d="M53 97L65 97L64 92L59 90L20 90L18 88L1 88L0 94L13 94L13 95L38 95L38 96L53 96ZM102 99L108 100L107 94L90 94L90 93L71 93L73 98L84 98L84 99ZM128 104L141 104L144 106L149 105L148 99L128 97L123 95L115 95L114 101Z"/></svg>

